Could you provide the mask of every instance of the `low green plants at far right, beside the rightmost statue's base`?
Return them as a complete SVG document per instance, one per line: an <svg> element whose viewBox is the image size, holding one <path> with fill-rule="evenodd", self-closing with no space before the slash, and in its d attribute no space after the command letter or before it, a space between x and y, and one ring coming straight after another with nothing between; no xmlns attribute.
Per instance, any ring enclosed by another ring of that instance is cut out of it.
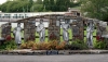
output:
<svg viewBox="0 0 108 62"><path fill-rule="evenodd" d="M108 42L106 40L104 41L96 41L94 45L95 49L108 49Z"/></svg>

